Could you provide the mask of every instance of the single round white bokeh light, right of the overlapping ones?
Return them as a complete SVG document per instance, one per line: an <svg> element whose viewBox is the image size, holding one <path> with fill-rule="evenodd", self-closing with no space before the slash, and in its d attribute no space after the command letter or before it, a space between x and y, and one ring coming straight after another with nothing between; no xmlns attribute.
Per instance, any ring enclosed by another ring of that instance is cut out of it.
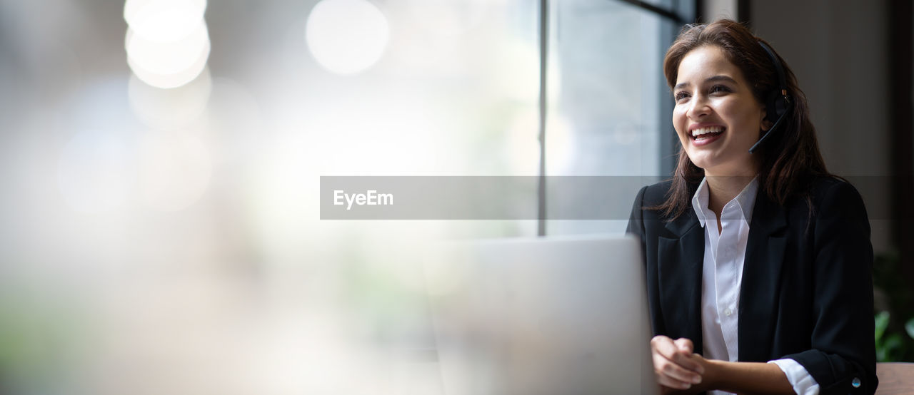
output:
<svg viewBox="0 0 914 395"><path fill-rule="evenodd" d="M322 0L311 10L305 41L317 62L336 74L370 68L388 45L388 19L365 0Z"/></svg>

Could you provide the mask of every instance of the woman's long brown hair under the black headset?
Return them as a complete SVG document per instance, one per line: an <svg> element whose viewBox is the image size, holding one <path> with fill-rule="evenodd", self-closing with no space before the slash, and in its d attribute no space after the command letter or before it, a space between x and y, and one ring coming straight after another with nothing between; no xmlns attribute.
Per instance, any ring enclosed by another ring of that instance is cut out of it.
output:
<svg viewBox="0 0 914 395"><path fill-rule="evenodd" d="M666 51L666 83L671 89L675 87L679 63L686 54L698 47L715 46L721 48L730 63L742 71L743 77L752 85L753 95L764 106L768 92L777 88L779 82L771 57L760 46L760 41L761 38L754 36L749 28L729 19L707 25L686 25ZM784 70L792 109L778 130L774 130L773 135L755 151L759 163L759 188L772 202L781 205L797 195L802 195L807 203L812 203L807 190L809 181L815 176L831 174L825 169L825 162L819 152L806 97L797 86L791 68L777 52L775 56ZM773 114L766 116L773 118ZM701 181L704 174L703 169L689 160L685 149L680 148L673 184L666 201L649 208L661 210L668 221L674 220L685 213L691 202L689 185Z"/></svg>

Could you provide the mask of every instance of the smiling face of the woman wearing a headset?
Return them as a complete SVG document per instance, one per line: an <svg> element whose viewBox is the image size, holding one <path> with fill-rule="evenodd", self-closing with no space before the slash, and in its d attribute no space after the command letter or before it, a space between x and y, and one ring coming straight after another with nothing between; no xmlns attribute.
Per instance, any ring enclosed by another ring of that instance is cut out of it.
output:
<svg viewBox="0 0 914 395"><path fill-rule="evenodd" d="M746 78L720 47L697 47L685 54L673 95L676 134L705 175L755 175L749 148L761 128L770 125Z"/></svg>

